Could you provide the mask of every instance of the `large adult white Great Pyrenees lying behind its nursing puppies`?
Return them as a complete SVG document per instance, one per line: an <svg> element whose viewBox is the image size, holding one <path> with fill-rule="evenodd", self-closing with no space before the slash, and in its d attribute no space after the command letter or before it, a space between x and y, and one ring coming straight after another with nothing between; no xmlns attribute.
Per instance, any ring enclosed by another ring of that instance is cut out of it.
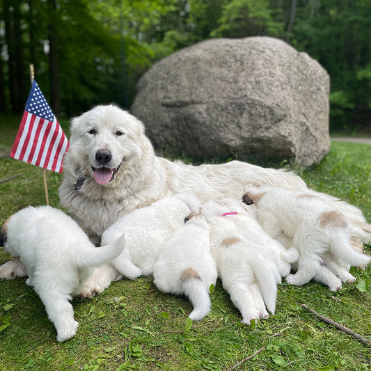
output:
<svg viewBox="0 0 371 371"><path fill-rule="evenodd" d="M191 166L157 157L143 123L113 105L95 106L72 119L70 132L70 149L59 189L61 205L95 244L121 216L165 196L191 193L204 202L225 197L240 199L248 187L261 184L307 189L292 172L241 161ZM363 228L370 228L356 207L325 194L319 197L345 214L355 237L362 237ZM9 262L10 269L13 274L22 270L19 262ZM118 277L116 269L104 266L90 279L90 287L102 292Z"/></svg>

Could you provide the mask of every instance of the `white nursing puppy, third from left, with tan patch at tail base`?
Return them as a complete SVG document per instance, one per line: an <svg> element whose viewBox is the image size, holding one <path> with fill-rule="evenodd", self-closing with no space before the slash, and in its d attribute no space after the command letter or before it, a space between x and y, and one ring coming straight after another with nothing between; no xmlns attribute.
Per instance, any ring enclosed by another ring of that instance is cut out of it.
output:
<svg viewBox="0 0 371 371"><path fill-rule="evenodd" d="M189 318L199 321L210 312L210 285L215 285L218 274L205 218L190 214L186 220L161 248L153 276L162 292L188 297L194 306Z"/></svg>

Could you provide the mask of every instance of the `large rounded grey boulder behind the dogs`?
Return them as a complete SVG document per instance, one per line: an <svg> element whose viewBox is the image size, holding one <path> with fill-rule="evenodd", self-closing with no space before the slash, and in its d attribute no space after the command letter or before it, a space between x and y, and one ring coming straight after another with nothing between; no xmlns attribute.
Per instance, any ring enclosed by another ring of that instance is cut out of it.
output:
<svg viewBox="0 0 371 371"><path fill-rule="evenodd" d="M131 112L155 148L310 166L330 148L329 84L317 61L282 40L211 39L145 72Z"/></svg>

